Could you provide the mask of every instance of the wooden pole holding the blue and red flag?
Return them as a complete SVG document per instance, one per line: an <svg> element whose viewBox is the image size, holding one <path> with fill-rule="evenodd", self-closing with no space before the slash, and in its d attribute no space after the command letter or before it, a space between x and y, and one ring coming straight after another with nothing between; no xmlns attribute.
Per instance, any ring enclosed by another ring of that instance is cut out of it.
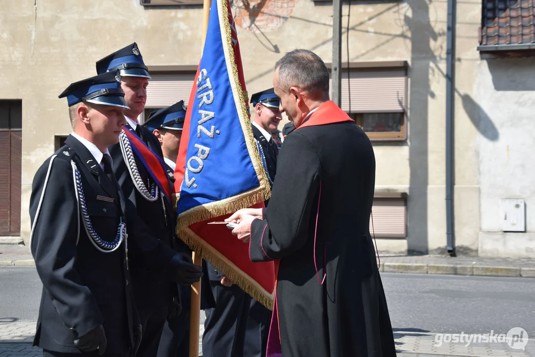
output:
<svg viewBox="0 0 535 357"><path fill-rule="evenodd" d="M210 6L212 0L204 0L203 3L203 19L202 19L202 45L201 56L204 50L204 41L208 32L208 20L210 18ZM201 256L193 252L193 263L201 265ZM208 279L208 277L204 277ZM189 315L189 357L198 357L199 355L199 324L201 321L201 282L192 284L192 305Z"/></svg>

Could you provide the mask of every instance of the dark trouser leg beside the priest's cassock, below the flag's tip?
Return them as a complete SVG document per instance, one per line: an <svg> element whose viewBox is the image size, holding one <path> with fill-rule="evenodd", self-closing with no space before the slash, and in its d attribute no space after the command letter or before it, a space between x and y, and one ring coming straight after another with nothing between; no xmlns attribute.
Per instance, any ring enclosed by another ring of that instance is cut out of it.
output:
<svg viewBox="0 0 535 357"><path fill-rule="evenodd" d="M250 298L244 357L265 357L272 312L257 300Z"/></svg>

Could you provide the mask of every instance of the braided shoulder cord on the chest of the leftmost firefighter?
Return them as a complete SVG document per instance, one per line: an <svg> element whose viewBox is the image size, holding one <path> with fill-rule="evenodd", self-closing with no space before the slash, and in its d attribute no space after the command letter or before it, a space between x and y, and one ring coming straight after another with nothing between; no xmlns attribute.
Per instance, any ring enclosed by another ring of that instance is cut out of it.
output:
<svg viewBox="0 0 535 357"><path fill-rule="evenodd" d="M80 206L80 211L82 214L82 222L83 226L86 229L87 235L89 236L89 240L95 248L100 250L103 253L111 253L123 242L123 239L126 236L126 224L124 222L119 223L119 226L117 227L117 234L115 236L115 239L111 242L105 241L100 236L98 236L98 233L93 228L93 224L91 224L91 220L89 219L89 214L87 212L87 205L86 205L86 197L83 194L83 187L82 187L82 180L80 178L80 171L78 171L78 168L74 161L71 161L73 176L74 176L74 189L76 191L77 200Z"/></svg>

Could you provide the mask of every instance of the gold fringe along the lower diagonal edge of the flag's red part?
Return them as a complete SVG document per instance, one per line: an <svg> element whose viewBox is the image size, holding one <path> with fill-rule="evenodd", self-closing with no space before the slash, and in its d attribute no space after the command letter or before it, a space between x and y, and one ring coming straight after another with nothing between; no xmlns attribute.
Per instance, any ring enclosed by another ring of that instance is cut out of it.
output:
<svg viewBox="0 0 535 357"><path fill-rule="evenodd" d="M185 228L179 232L179 237L184 241L195 253L200 255L202 259L209 262L217 270L223 272L225 276L229 277L234 284L238 285L244 292L248 293L259 301L266 308L273 310L273 292L266 291L254 279L246 277L244 272L239 269L234 263L228 260L223 254L210 246L201 237L197 236L195 232L189 228Z"/></svg>

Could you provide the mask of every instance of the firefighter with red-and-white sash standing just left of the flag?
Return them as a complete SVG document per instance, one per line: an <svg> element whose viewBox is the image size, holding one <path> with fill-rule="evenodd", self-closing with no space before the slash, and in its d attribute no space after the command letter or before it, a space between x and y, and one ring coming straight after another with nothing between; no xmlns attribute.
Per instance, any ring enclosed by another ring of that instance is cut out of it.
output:
<svg viewBox="0 0 535 357"><path fill-rule="evenodd" d="M141 52L134 42L96 63L97 72L119 70L121 88L129 109L124 111L126 125L132 135L137 136L149 149L144 151L150 158L158 158L158 165L165 170L162 148L156 136L137 123L147 101L147 85L150 78ZM155 172L147 166L149 157L141 151L127 150L126 135L119 137L119 144L110 147L113 171L119 181L134 215L129 219L137 222L137 229L146 232L152 239L139 241L133 247L136 253L132 259L134 297L139 311L142 340L138 357L154 357L158 351L162 330L169 312L180 304L177 284L192 284L202 275L201 268L192 263L191 256L180 251L175 237L176 217L168 198L156 182ZM156 168L156 169L161 169ZM165 188L164 188L165 189ZM133 253L134 253L133 252ZM154 254L158 252L158 254ZM158 257L158 259L153 259ZM135 259L137 258L137 259Z"/></svg>

